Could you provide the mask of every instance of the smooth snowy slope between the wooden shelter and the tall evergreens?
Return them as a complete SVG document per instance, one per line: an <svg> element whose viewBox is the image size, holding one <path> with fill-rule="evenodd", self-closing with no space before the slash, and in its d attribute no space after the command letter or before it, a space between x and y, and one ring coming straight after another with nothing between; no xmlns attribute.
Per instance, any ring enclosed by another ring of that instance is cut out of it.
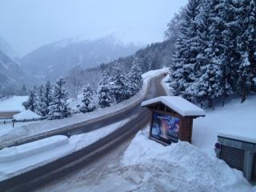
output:
<svg viewBox="0 0 256 192"><path fill-rule="evenodd" d="M162 80L162 85L168 90L168 84ZM170 94L170 93L169 93ZM217 142L218 132L250 134L256 139L256 95L250 95L241 103L240 98L233 98L225 106L215 106L214 110L206 110L205 118L196 118L193 122L192 144L215 156L214 143Z"/></svg>

